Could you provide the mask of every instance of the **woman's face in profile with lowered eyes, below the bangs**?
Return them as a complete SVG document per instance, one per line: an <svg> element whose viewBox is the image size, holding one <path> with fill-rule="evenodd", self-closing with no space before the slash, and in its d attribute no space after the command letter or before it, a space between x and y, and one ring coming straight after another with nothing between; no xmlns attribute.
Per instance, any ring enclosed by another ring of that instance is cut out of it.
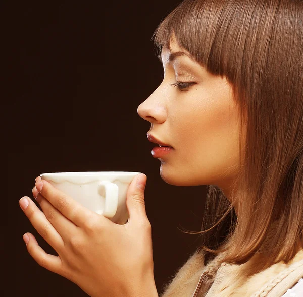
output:
<svg viewBox="0 0 303 297"><path fill-rule="evenodd" d="M172 53L188 53L174 41L170 47L161 53L162 83L137 110L151 123L148 133L173 147L159 158L161 177L176 186L229 187L239 165L239 115L231 86L186 55L170 59ZM171 85L177 81L182 90Z"/></svg>

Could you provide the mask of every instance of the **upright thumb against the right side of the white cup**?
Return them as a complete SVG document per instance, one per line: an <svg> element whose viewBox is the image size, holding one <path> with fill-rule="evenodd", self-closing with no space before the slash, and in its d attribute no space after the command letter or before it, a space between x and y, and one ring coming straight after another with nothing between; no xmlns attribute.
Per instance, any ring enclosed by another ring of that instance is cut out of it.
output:
<svg viewBox="0 0 303 297"><path fill-rule="evenodd" d="M129 219L142 220L146 217L144 189L147 181L145 174L137 174L130 183L126 194L126 206L129 213Z"/></svg>

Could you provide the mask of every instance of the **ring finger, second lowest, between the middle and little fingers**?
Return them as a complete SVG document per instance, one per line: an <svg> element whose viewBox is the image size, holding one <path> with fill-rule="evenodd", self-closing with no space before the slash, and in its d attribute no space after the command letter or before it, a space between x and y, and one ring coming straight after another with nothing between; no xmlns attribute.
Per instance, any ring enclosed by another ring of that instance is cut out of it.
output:
<svg viewBox="0 0 303 297"><path fill-rule="evenodd" d="M41 212L35 203L27 196L21 198L19 204L33 227L43 239L51 245L55 251L60 251L60 249L64 247L63 239L53 225L47 220L44 213Z"/></svg>

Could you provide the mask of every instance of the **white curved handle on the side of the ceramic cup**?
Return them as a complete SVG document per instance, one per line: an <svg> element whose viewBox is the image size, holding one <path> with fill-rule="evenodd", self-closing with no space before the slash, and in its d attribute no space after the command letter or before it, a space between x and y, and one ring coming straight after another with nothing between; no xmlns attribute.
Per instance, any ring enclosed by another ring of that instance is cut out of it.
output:
<svg viewBox="0 0 303 297"><path fill-rule="evenodd" d="M107 218L112 218L116 214L118 208L119 187L109 181L99 182L99 188L100 187L105 188L105 205L100 214Z"/></svg>

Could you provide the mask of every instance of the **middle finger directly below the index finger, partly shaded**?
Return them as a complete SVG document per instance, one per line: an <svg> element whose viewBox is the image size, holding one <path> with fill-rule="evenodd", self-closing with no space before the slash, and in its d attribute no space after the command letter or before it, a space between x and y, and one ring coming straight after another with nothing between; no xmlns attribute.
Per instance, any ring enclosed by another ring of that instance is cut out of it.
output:
<svg viewBox="0 0 303 297"><path fill-rule="evenodd" d="M32 190L33 196L40 205L46 219L54 226L60 234L64 242L70 238L71 234L75 233L77 226L66 218L60 211L58 211L51 203L49 203L41 194L39 194L36 187Z"/></svg>

